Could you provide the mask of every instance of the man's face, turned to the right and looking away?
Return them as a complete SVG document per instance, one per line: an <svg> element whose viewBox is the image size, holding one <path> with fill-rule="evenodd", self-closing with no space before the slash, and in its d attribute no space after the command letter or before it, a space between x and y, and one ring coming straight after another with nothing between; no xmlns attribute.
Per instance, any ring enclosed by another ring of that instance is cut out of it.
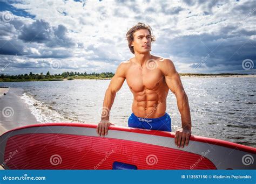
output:
<svg viewBox="0 0 256 184"><path fill-rule="evenodd" d="M151 49L151 36L149 31L143 29L133 33L133 41L131 43L134 52L147 53Z"/></svg>

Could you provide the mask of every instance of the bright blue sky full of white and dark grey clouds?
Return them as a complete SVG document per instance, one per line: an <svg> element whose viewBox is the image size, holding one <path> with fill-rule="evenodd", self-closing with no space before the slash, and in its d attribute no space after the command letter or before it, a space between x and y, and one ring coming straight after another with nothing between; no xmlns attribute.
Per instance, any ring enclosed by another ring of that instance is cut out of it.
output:
<svg viewBox="0 0 256 184"><path fill-rule="evenodd" d="M255 0L0 0L0 74L115 72L138 22L180 73L256 74L255 15Z"/></svg>

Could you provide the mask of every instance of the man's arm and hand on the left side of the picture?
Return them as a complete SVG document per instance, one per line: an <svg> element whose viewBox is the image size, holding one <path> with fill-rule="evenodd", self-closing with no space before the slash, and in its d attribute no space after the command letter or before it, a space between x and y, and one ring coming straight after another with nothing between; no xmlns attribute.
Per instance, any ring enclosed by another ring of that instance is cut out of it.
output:
<svg viewBox="0 0 256 184"><path fill-rule="evenodd" d="M114 97L116 97L117 91L122 87L125 81L125 63L120 63L117 68L116 74L112 77L109 87L106 90L103 110L102 110L102 120L97 126L97 133L99 136L107 135L107 131L110 125L113 125L109 122L109 115L111 107L114 103Z"/></svg>

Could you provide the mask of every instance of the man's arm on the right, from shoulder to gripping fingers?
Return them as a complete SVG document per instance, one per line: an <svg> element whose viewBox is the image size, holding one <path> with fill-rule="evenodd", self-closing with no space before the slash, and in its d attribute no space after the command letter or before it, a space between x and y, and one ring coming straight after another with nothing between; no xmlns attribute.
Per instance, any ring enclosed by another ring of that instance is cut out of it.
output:
<svg viewBox="0 0 256 184"><path fill-rule="evenodd" d="M167 86L177 98L177 105L181 115L182 128L176 131L175 144L178 147L184 147L184 144L186 146L188 145L191 135L191 117L188 98L181 83L180 76L170 59L165 59L161 63L161 70L165 76Z"/></svg>

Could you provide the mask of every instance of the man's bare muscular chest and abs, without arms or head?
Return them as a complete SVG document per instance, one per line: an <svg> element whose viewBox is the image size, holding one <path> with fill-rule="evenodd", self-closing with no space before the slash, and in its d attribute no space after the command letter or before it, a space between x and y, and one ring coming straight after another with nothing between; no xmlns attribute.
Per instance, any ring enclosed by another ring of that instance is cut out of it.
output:
<svg viewBox="0 0 256 184"><path fill-rule="evenodd" d="M134 58L126 62L126 82L134 97L132 112L137 117L158 118L165 115L169 88L159 68L163 58L152 56L152 59L143 67L134 62Z"/></svg>

